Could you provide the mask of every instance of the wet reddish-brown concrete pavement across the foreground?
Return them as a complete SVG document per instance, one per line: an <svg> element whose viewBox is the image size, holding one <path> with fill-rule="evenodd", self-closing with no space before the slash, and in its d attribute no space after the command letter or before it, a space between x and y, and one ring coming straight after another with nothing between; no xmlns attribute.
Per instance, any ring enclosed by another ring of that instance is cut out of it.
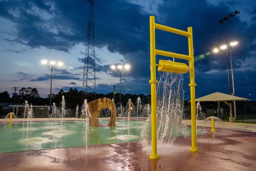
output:
<svg viewBox="0 0 256 171"><path fill-rule="evenodd" d="M159 160L140 142L68 147L0 154L0 170L256 170L256 133L216 129L198 135L199 152L190 137L159 145Z"/></svg>

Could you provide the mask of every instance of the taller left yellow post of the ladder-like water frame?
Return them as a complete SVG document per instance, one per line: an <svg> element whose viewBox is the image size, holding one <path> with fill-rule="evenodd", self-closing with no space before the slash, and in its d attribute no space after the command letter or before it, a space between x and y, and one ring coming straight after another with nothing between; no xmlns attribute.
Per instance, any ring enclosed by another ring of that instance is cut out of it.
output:
<svg viewBox="0 0 256 171"><path fill-rule="evenodd" d="M151 67L151 147L150 159L159 159L157 154L157 97L156 97L156 42L155 16L150 16L150 67Z"/></svg>

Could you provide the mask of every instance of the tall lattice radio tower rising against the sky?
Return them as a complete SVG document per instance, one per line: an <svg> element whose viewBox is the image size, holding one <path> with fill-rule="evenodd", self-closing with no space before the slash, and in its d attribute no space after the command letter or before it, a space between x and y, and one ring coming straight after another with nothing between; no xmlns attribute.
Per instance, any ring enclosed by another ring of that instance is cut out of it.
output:
<svg viewBox="0 0 256 171"><path fill-rule="evenodd" d="M88 2L90 3L90 13L87 27L86 54L84 56L81 104L83 104L83 100L88 94L96 99L94 0L88 0Z"/></svg>

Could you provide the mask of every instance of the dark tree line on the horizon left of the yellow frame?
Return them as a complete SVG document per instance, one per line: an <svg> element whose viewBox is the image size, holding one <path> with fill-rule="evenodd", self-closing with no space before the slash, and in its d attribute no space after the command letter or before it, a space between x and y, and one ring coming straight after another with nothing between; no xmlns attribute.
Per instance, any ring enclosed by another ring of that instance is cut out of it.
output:
<svg viewBox="0 0 256 171"><path fill-rule="evenodd" d="M56 93L52 93L52 104L55 103L56 106L59 106L62 100L62 96L65 96L65 102L66 106L69 109L75 109L77 104L81 106L81 96L82 96L82 91L78 91L77 89L70 88L68 92L64 92L62 89ZM114 94L108 93L108 94L97 94L92 95L90 93L85 93L84 96L88 102L98 99L98 98L103 98L103 97L108 97L113 99ZM121 104L126 105L129 99L132 99L132 102L134 105L137 104L137 99L138 97L141 98L141 103L142 104L147 104L150 103L150 95L144 95L144 94L121 94ZM25 100L27 100L29 103L32 103L32 105L49 105L50 104L50 94L48 95L47 98L41 98L37 89L36 88L22 88L20 89L16 94L12 94L12 97L10 97L10 94L7 91L4 91L0 93L0 102L7 102L9 104L13 104L15 101L15 104L22 105L25 103ZM115 103L119 103L119 94L115 94Z"/></svg>

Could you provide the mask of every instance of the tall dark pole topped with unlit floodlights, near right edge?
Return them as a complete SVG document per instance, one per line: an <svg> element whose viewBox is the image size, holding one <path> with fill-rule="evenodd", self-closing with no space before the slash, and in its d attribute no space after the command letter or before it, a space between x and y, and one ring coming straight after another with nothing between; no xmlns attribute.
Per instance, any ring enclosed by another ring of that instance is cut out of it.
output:
<svg viewBox="0 0 256 171"><path fill-rule="evenodd" d="M229 44L231 44L230 43L230 32L229 32L229 18L232 18L232 17L236 16L237 14L240 14L240 11L236 10L234 12L231 12L230 14L227 14L225 17L223 17L221 20L219 20L220 24L224 23L225 21L227 22ZM230 51L230 63L231 63L232 89L233 89L232 95L234 96L235 95L235 93L234 93L234 76L233 76L233 63L232 63L231 51ZM234 101L234 118L237 119L236 101Z"/></svg>

